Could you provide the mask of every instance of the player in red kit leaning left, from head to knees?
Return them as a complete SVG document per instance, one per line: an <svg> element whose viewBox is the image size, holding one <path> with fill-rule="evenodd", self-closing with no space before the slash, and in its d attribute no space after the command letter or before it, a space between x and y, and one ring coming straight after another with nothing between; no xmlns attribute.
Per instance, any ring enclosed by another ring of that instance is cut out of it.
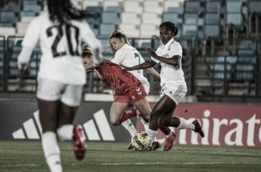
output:
<svg viewBox="0 0 261 172"><path fill-rule="evenodd" d="M146 98L147 94L138 78L131 72L123 71L120 65L106 59L103 64L96 65L88 45L82 47L82 60L87 72L95 70L102 82L113 89L115 99L110 112L111 124L120 125L122 114L129 105L135 105L142 117L149 120L151 110Z"/></svg>

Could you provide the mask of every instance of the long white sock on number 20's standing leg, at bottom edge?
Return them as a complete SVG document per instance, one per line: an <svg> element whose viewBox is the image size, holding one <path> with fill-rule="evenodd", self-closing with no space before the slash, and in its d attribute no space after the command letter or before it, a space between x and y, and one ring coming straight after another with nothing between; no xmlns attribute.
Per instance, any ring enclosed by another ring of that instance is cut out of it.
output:
<svg viewBox="0 0 261 172"><path fill-rule="evenodd" d="M47 131L42 137L43 153L51 172L62 172L60 163L60 149L56 140L56 133Z"/></svg>

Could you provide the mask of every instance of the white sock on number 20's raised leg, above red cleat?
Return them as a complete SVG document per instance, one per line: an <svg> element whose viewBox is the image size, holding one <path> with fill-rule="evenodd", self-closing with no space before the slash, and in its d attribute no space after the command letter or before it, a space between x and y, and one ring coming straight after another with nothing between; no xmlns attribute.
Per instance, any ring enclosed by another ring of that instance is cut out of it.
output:
<svg viewBox="0 0 261 172"><path fill-rule="evenodd" d="M61 141L72 140L73 125L62 125L57 129L57 135Z"/></svg>

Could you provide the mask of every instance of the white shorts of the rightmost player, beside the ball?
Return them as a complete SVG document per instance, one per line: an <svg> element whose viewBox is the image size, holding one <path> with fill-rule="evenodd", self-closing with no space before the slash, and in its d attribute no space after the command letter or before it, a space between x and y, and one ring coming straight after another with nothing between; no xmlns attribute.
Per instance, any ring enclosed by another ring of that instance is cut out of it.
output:
<svg viewBox="0 0 261 172"><path fill-rule="evenodd" d="M169 96L176 103L176 105L179 105L186 93L186 85L163 85L160 96Z"/></svg>

